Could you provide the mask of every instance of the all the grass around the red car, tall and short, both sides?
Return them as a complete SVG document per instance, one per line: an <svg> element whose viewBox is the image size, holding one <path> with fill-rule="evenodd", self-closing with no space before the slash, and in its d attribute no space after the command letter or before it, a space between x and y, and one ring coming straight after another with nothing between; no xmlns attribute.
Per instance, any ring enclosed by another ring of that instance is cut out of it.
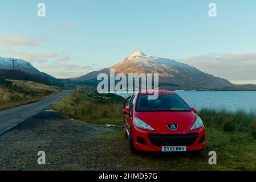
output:
<svg viewBox="0 0 256 182"><path fill-rule="evenodd" d="M132 155L123 134L123 98L80 90L73 91L52 108L86 122L116 125L97 139L92 146L94 154L90 153L95 157L108 155L104 162L106 170L256 170L256 115L253 112L211 109L198 112L207 133L206 148L200 154L143 152ZM209 151L217 152L216 166L208 163Z"/></svg>

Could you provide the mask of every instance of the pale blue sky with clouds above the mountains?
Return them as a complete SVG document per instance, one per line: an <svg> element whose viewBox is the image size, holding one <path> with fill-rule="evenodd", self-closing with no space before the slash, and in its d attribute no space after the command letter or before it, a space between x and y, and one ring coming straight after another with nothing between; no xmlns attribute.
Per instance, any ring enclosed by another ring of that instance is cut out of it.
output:
<svg viewBox="0 0 256 182"><path fill-rule="evenodd" d="M38 16L38 3L46 17ZM216 3L216 17L208 15L209 3ZM1 1L0 56L68 78L139 50L256 84L255 10L254 0Z"/></svg>

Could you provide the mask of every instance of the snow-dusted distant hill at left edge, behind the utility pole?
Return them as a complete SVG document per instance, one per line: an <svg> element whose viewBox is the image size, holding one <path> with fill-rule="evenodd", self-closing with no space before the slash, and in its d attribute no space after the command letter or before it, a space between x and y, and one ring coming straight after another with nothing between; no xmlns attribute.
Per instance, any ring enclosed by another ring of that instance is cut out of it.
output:
<svg viewBox="0 0 256 182"><path fill-rule="evenodd" d="M13 69L13 61L10 61L12 58L3 58L0 57L0 69ZM14 69L20 69L21 71L32 73L32 74L42 74L38 69L33 67L29 62L18 59L14 62Z"/></svg>

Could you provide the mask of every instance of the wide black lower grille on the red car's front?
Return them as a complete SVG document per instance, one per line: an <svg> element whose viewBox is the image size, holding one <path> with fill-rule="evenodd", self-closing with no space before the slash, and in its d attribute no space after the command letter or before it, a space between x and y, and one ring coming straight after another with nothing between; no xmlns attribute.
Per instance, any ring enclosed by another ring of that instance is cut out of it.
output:
<svg viewBox="0 0 256 182"><path fill-rule="evenodd" d="M192 146L198 137L198 133L181 135L148 134L148 138L154 146Z"/></svg>

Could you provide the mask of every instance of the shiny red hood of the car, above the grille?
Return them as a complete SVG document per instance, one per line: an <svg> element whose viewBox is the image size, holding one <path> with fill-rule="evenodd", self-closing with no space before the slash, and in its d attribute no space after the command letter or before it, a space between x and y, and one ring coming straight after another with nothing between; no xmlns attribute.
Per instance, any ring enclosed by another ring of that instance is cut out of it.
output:
<svg viewBox="0 0 256 182"><path fill-rule="evenodd" d="M161 133L184 133L189 131L197 119L197 115L192 111L170 111L170 112L139 112L135 117L148 123L156 131ZM169 130L167 125L178 125L177 130Z"/></svg>

